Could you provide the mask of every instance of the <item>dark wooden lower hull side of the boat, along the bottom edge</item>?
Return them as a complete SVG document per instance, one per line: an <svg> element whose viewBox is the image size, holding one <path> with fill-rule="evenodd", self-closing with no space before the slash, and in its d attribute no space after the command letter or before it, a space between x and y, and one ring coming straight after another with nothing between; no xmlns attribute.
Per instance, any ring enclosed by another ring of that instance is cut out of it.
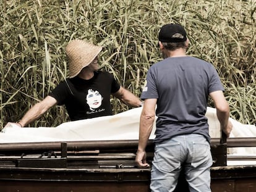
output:
<svg viewBox="0 0 256 192"><path fill-rule="evenodd" d="M1 191L150 191L150 169L0 167ZM256 191L256 166L211 168L213 192ZM188 191L184 178L176 191Z"/></svg>

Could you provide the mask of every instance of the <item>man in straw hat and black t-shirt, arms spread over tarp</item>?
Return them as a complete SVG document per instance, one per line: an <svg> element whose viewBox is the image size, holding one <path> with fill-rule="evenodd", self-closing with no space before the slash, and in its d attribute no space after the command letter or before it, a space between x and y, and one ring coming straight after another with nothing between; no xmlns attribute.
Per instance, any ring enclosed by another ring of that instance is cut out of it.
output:
<svg viewBox="0 0 256 192"><path fill-rule="evenodd" d="M140 99L122 88L113 75L98 71L101 49L82 40L70 41L66 46L69 78L36 103L16 125L24 127L32 123L56 104L66 106L72 121L112 115L111 94L129 106L140 107Z"/></svg>

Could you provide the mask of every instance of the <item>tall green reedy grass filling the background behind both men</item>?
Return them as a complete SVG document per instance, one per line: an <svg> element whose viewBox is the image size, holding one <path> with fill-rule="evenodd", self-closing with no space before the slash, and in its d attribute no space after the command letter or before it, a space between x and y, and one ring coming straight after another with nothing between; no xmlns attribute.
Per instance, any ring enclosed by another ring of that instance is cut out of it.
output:
<svg viewBox="0 0 256 192"><path fill-rule="evenodd" d="M2 0L0 6L0 129L68 77L64 48L75 38L103 46L101 70L140 96L148 68L161 59L158 31L171 22L186 27L187 53L218 70L231 117L256 123L255 0ZM129 109L111 102L114 113ZM64 107L54 107L30 126L67 120Z"/></svg>

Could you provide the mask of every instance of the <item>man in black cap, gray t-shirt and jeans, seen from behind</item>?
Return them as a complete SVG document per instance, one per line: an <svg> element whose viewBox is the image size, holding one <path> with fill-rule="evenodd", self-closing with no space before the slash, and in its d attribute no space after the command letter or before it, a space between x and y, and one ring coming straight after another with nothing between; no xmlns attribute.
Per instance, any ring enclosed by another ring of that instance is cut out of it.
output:
<svg viewBox="0 0 256 192"><path fill-rule="evenodd" d="M182 168L189 191L211 191L212 159L205 113L210 95L221 129L229 136L232 124L228 120L224 88L213 65L186 55L189 41L181 25L164 25L158 40L164 59L152 65L147 73L147 85L141 96L144 105L135 161L139 167L149 166L145 148L156 113L151 191L174 191Z"/></svg>

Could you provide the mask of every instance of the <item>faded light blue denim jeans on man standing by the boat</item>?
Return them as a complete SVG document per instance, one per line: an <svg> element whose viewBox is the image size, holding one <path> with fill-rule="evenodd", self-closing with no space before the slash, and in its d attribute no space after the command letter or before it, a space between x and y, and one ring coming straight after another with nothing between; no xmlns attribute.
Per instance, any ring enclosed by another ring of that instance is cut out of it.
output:
<svg viewBox="0 0 256 192"><path fill-rule="evenodd" d="M168 141L155 144L150 189L153 192L173 191L182 165L190 192L211 191L212 163L210 144L202 135L175 136Z"/></svg>

